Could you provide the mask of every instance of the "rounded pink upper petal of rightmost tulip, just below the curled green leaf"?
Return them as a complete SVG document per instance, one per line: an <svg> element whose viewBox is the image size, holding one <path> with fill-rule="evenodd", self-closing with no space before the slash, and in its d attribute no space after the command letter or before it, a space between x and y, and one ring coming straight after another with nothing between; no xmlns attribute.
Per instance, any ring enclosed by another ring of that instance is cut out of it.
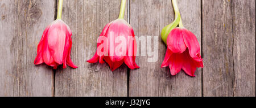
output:
<svg viewBox="0 0 256 108"><path fill-rule="evenodd" d="M182 28L172 29L167 37L167 46L172 51L172 53L183 53L187 49L187 46L183 40L182 31Z"/></svg>

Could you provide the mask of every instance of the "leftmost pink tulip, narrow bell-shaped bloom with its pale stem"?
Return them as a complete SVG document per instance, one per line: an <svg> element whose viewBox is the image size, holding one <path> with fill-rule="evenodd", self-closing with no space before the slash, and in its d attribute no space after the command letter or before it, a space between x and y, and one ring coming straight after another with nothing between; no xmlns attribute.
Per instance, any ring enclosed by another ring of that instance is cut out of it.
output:
<svg viewBox="0 0 256 108"><path fill-rule="evenodd" d="M60 0L57 19L49 24L43 32L34 61L36 65L46 63L53 69L57 69L60 64L63 64L63 68L66 68L68 64L72 68L77 68L70 57L72 32L68 25L61 20L62 3L63 0Z"/></svg>

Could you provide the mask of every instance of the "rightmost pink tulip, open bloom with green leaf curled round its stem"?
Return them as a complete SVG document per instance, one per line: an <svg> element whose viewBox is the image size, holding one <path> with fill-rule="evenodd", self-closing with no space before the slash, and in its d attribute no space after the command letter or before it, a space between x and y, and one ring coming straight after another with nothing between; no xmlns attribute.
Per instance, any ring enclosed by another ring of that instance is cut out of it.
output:
<svg viewBox="0 0 256 108"><path fill-rule="evenodd" d="M167 52L161 67L168 66L171 75L176 75L182 68L189 76L195 76L196 68L204 67L203 58L200 55L200 45L196 36L183 27L176 0L172 0L172 4L176 19L172 25L167 25L170 26L169 28L166 27L162 31L162 39L167 45ZM179 27L176 27L177 20L179 20ZM170 31L168 36L166 36L166 31Z"/></svg>

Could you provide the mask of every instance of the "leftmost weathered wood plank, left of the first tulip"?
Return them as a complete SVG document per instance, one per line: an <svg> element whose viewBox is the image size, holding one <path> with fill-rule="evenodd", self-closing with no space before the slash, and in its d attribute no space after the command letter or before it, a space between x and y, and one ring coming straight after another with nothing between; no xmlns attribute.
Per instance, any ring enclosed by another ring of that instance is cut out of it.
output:
<svg viewBox="0 0 256 108"><path fill-rule="evenodd" d="M55 1L0 1L0 96L53 96L53 71L34 65Z"/></svg>

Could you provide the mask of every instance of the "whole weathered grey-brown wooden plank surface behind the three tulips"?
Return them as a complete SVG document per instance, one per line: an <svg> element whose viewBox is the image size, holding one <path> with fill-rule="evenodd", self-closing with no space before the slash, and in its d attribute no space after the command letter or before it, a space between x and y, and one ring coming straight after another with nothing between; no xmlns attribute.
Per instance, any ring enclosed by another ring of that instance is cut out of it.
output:
<svg viewBox="0 0 256 108"><path fill-rule="evenodd" d="M128 0L125 19L135 36L158 36L158 61L112 72L89 64L104 26L117 19L119 0L64 0L77 69L34 65L44 28L56 18L55 0L0 0L0 96L253 96L255 97L255 0L178 0L184 27L201 45L204 68L196 77L160 68L164 26L174 20L171 0ZM141 46L139 46L140 48ZM152 46L153 47L153 46Z"/></svg>

